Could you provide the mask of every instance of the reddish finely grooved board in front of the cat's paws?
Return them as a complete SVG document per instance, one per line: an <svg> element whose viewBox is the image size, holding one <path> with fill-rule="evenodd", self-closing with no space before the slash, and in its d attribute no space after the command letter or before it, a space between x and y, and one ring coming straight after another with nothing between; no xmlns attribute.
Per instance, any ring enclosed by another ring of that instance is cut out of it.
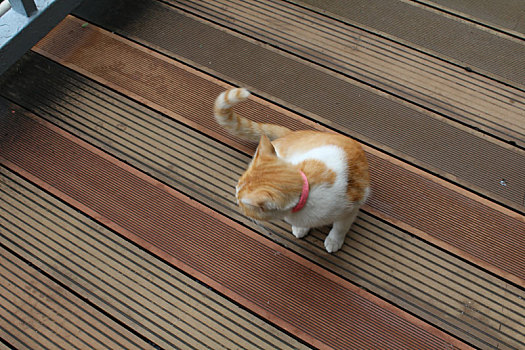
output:
<svg viewBox="0 0 525 350"><path fill-rule="evenodd" d="M60 129L14 110L1 112L5 166L305 341L337 348L468 348Z"/></svg>

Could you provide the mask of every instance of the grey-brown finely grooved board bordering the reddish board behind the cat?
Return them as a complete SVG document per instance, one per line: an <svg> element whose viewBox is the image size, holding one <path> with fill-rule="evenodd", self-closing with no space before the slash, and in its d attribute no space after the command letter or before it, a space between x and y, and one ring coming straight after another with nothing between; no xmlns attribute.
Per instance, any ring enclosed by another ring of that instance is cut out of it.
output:
<svg viewBox="0 0 525 350"><path fill-rule="evenodd" d="M203 69L208 72L248 86L332 128L523 210L523 150L492 143L351 78L212 26L166 4L153 0L97 0L85 2L80 9L83 17L111 31L189 64L205 67ZM70 35L65 30L75 26L78 24L64 24L62 30L55 30L57 42L87 40L84 45L92 45L89 31ZM64 44L44 40L39 49L87 69L83 66L85 57L67 57L73 47L66 49ZM123 67L113 65L112 68ZM108 71L97 73L105 79L112 74ZM144 82L150 80L147 74L136 78ZM152 81L148 84L151 86ZM507 185L502 186L501 180Z"/></svg>

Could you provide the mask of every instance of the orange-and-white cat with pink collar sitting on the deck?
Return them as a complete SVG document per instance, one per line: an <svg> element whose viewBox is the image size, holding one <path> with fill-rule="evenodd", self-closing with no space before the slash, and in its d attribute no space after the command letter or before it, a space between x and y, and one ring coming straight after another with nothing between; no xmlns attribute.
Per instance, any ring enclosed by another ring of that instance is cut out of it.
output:
<svg viewBox="0 0 525 350"><path fill-rule="evenodd" d="M232 107L250 95L244 88L224 91L214 108L215 119L228 132L259 142L236 186L237 204L254 220L284 219L297 238L332 224L324 246L336 252L370 193L361 145L336 133L291 131L241 117Z"/></svg>

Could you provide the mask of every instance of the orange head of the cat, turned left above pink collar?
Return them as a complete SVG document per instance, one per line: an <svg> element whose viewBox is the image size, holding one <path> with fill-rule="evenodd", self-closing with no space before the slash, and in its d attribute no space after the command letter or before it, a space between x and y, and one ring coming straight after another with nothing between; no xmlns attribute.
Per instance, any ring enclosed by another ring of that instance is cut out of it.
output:
<svg viewBox="0 0 525 350"><path fill-rule="evenodd" d="M299 169L279 159L272 143L263 135L236 187L241 211L255 220L282 219L297 204L301 190Z"/></svg>

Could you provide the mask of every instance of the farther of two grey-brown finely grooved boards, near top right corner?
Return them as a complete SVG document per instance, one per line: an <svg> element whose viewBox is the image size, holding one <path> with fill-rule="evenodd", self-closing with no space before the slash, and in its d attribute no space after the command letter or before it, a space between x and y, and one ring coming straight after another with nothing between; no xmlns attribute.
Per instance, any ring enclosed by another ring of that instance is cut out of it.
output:
<svg viewBox="0 0 525 350"><path fill-rule="evenodd" d="M400 0L299 0L447 60L525 87L525 44ZM479 3L478 3L479 4ZM477 5L479 6L479 5ZM503 5L502 5L503 6ZM429 35L429 34L432 35Z"/></svg>

